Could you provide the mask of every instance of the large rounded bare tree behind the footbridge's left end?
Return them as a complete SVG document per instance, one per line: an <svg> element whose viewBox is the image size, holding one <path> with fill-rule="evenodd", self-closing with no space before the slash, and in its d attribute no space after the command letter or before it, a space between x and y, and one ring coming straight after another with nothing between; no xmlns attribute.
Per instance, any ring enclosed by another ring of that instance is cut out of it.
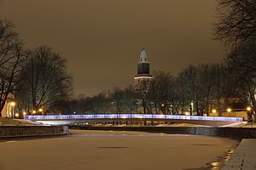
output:
<svg viewBox="0 0 256 170"><path fill-rule="evenodd" d="M55 101L67 98L72 94L72 77L67 74L67 61L56 54L52 48L45 46L32 50L20 76L24 80L20 83L23 89L17 94L20 101L29 105L27 111L38 111L55 105ZM28 95L24 98L22 94Z"/></svg>

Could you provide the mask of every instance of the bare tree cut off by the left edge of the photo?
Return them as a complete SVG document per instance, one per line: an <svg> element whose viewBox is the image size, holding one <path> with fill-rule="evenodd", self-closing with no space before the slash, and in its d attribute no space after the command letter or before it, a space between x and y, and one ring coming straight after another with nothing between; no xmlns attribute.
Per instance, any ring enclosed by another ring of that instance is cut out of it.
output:
<svg viewBox="0 0 256 170"><path fill-rule="evenodd" d="M9 20L0 20L0 113L20 82L20 68L26 60L23 43Z"/></svg>

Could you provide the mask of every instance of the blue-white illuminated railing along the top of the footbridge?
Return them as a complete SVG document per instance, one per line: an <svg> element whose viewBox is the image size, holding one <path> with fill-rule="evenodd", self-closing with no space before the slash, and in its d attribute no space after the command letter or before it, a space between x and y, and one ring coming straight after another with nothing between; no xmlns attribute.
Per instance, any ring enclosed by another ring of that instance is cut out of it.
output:
<svg viewBox="0 0 256 170"><path fill-rule="evenodd" d="M241 122L242 117L222 116L177 116L177 115L152 115L152 114L91 114L91 115L44 115L24 116L26 120L91 120L91 119L176 119L196 121L228 121Z"/></svg>

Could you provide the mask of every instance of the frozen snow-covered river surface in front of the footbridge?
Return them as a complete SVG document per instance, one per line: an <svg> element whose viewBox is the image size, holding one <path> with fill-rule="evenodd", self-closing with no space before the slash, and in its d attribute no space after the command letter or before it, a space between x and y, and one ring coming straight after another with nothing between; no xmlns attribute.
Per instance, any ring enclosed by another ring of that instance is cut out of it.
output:
<svg viewBox="0 0 256 170"><path fill-rule="evenodd" d="M207 136L71 132L63 138L0 142L0 170L199 170L237 144Z"/></svg>

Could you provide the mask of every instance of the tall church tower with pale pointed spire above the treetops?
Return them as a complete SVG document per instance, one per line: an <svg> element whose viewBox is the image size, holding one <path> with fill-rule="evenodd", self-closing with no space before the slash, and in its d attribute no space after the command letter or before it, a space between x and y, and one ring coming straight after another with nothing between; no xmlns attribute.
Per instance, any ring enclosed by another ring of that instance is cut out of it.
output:
<svg viewBox="0 0 256 170"><path fill-rule="evenodd" d="M144 87L149 88L152 78L153 77L150 75L150 63L148 61L146 49L143 48L139 62L137 63L137 75L134 77L135 89L140 90Z"/></svg>

